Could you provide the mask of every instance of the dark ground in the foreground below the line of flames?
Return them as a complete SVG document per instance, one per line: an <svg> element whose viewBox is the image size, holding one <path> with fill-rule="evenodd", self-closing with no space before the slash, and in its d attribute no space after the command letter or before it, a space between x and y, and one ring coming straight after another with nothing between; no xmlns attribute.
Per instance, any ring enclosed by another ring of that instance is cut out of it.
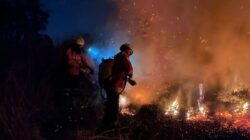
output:
<svg viewBox="0 0 250 140"><path fill-rule="evenodd" d="M96 126L98 124L95 124ZM246 130L227 129L216 121L187 122L166 117L156 106L143 106L135 116L121 115L116 129L95 134L95 128L73 128L53 131L50 139L116 139L116 140L248 140Z"/></svg>

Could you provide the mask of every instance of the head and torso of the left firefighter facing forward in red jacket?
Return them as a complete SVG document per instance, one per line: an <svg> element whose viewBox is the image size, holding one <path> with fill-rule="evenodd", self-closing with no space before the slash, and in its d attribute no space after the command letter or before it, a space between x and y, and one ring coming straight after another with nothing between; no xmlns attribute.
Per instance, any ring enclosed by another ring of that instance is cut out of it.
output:
<svg viewBox="0 0 250 140"><path fill-rule="evenodd" d="M91 60L82 49L85 45L84 38L81 36L74 37L65 54L65 88L80 88L81 74L93 74L94 66Z"/></svg>

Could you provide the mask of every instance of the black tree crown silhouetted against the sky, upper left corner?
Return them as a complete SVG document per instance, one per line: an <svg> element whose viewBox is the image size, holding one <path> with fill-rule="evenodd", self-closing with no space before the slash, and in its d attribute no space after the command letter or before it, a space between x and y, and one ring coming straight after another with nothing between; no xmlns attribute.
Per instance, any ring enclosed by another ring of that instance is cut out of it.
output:
<svg viewBox="0 0 250 140"><path fill-rule="evenodd" d="M20 45L46 29L48 13L40 8L39 0L1 0L0 19L2 44Z"/></svg>

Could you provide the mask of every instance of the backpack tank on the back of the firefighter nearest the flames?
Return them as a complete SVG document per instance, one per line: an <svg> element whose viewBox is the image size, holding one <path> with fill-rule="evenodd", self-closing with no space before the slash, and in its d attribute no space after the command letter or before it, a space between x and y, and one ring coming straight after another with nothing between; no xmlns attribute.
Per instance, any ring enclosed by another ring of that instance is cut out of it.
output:
<svg viewBox="0 0 250 140"><path fill-rule="evenodd" d="M111 80L113 64L114 59L112 58L102 59L98 72L98 80L101 87L104 87L104 85Z"/></svg>

